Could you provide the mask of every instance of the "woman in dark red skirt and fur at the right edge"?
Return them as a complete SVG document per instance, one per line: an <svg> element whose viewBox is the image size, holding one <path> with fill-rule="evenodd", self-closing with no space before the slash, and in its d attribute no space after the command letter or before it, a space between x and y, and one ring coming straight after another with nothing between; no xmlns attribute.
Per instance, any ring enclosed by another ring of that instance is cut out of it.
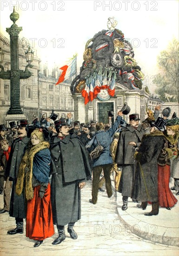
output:
<svg viewBox="0 0 179 256"><path fill-rule="evenodd" d="M167 127L164 131L166 143L158 158L158 195L159 206L171 210L171 207L177 203L177 199L169 188L170 159L179 157L176 146L179 139L179 125L170 125L170 122L166 123L166 125Z"/></svg>

